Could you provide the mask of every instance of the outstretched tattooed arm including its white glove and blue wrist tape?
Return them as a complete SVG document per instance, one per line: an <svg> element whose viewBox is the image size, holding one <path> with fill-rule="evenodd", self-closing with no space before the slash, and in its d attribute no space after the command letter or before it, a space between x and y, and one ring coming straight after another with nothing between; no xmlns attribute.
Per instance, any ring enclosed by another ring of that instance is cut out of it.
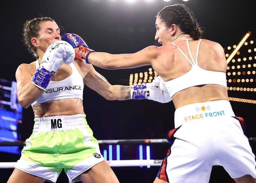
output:
<svg viewBox="0 0 256 183"><path fill-rule="evenodd" d="M164 86L164 81L159 76L152 83L131 86L112 85L94 70L91 64L86 64L86 67L90 67L90 71L84 77L84 83L107 100L148 99L160 103L172 100Z"/></svg>

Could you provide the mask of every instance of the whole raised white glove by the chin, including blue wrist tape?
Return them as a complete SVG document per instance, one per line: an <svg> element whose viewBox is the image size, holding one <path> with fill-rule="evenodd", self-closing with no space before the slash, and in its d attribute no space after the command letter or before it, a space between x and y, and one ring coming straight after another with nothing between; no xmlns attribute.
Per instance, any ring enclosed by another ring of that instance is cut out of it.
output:
<svg viewBox="0 0 256 183"><path fill-rule="evenodd" d="M31 82L44 90L62 61L70 64L75 59L74 48L66 41L55 41L45 51L40 67L35 71Z"/></svg>

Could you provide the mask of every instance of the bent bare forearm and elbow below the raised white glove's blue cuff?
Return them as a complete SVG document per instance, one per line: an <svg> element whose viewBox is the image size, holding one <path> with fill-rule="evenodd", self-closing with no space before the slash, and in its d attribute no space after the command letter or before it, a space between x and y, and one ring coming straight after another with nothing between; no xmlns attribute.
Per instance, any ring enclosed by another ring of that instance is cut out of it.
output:
<svg viewBox="0 0 256 183"><path fill-rule="evenodd" d="M18 101L20 105L24 108L28 108L40 95L42 94L43 90L36 87L31 82L27 83L23 87L19 89L17 92Z"/></svg>

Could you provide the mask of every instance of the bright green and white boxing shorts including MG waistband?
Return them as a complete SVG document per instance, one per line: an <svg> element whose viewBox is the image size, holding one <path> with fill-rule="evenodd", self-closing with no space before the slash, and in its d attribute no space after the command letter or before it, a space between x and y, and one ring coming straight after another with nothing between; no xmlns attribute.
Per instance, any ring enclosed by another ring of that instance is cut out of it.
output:
<svg viewBox="0 0 256 183"><path fill-rule="evenodd" d="M70 182L102 162L97 139L85 114L35 118L32 135L26 140L15 168L56 182L62 169Z"/></svg>

